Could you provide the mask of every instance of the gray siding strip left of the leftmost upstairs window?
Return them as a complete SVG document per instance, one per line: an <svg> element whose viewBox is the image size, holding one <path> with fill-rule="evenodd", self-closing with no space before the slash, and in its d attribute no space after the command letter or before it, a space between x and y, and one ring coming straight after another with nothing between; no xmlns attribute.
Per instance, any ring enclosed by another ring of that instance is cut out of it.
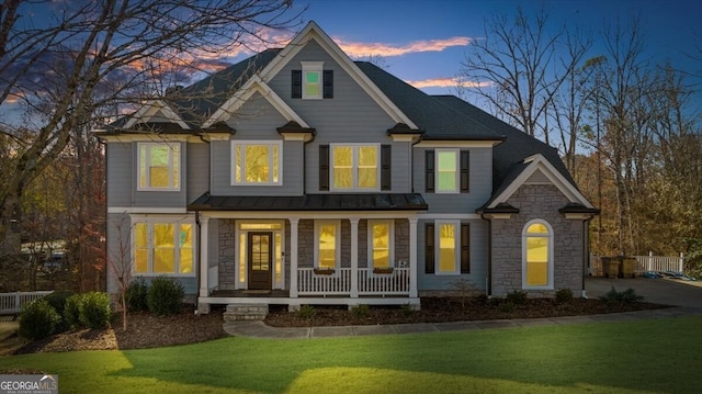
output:
<svg viewBox="0 0 702 394"><path fill-rule="evenodd" d="M105 149L107 206L129 206L136 188L133 181L136 162L132 156L132 143L109 143Z"/></svg>

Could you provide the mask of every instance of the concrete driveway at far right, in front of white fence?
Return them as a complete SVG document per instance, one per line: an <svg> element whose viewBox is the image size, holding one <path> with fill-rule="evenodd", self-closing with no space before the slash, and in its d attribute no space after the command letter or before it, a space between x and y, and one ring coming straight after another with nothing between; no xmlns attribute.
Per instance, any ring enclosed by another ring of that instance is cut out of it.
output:
<svg viewBox="0 0 702 394"><path fill-rule="evenodd" d="M667 279L607 279L587 278L585 289L588 297L599 297L612 290L618 292L632 288L644 301L657 304L702 308L702 281L683 282Z"/></svg>

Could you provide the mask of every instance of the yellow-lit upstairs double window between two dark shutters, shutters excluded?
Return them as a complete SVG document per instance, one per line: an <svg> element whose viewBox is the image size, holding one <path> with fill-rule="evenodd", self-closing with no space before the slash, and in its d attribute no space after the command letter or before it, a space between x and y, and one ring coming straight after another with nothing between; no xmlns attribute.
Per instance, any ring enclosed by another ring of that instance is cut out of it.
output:
<svg viewBox="0 0 702 394"><path fill-rule="evenodd" d="M331 156L335 190L378 189L377 145L333 145Z"/></svg>

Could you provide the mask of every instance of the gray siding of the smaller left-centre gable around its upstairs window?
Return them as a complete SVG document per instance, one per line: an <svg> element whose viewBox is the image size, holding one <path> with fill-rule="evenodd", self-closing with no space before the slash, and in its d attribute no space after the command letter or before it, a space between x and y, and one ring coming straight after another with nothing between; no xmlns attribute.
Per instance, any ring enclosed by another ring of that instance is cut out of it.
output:
<svg viewBox="0 0 702 394"><path fill-rule="evenodd" d="M231 117L228 124L236 130L233 140L283 140L276 127L287 121L260 94L256 93ZM303 194L303 142L283 142L282 185L231 185L231 142L212 143L213 195L301 195Z"/></svg>

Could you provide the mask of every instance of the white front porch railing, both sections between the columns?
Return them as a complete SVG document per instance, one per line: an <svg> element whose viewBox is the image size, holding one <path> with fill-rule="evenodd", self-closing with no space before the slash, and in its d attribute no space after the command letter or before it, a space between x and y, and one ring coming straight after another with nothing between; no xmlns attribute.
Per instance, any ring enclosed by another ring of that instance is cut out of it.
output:
<svg viewBox="0 0 702 394"><path fill-rule="evenodd" d="M297 269L299 295L351 294L351 269L336 269L331 274L317 274L314 268ZM359 268L359 295L409 294L409 268L395 268L390 273L374 273L372 268Z"/></svg>

